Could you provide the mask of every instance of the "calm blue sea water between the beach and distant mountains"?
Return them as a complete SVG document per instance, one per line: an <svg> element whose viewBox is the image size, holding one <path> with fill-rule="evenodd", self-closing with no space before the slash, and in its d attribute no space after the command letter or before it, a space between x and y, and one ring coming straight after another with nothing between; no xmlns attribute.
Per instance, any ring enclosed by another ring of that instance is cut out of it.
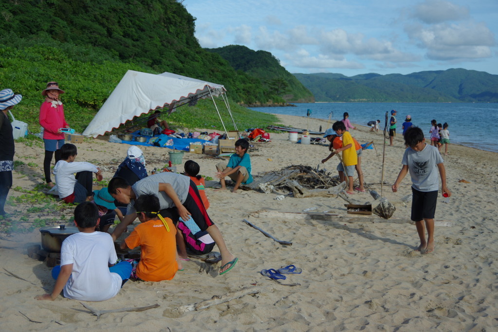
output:
<svg viewBox="0 0 498 332"><path fill-rule="evenodd" d="M476 147L482 150L498 152L498 104L467 104L467 103L314 103L295 104L296 107L258 107L254 111L306 116L308 109L311 117L333 120L343 118L343 113L349 113L352 123L367 125L368 121L380 120L380 128L384 128L385 112L396 110L397 133L401 133L401 124L406 115L411 115L412 122L422 128L426 138L432 119L438 123L448 122L450 141L455 144ZM284 123L285 124L285 123ZM306 128L303 119L301 128ZM307 128L318 130L319 128ZM322 128L324 131L325 127Z"/></svg>

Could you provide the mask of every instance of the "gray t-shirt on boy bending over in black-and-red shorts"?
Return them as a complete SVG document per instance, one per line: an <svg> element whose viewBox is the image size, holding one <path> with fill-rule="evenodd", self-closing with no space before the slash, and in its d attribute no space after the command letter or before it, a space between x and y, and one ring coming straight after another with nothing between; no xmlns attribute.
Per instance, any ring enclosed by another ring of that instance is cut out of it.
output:
<svg viewBox="0 0 498 332"><path fill-rule="evenodd" d="M159 198L161 210L174 207L175 205L171 198L166 195L165 192L159 192L159 183L169 183L173 187L173 190L175 191L182 204L187 199L190 187L190 178L188 176L172 172L161 172L147 176L146 178L135 182L135 184L131 186L131 190L133 190L136 197L139 197L143 194L156 195ZM134 200L131 200L128 204L126 209L127 215L136 213L134 204Z"/></svg>

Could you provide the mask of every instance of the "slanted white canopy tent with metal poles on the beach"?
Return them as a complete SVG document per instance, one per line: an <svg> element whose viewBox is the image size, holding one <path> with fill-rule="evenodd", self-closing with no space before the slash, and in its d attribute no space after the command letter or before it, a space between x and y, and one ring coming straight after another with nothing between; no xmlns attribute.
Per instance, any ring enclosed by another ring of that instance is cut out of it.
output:
<svg viewBox="0 0 498 332"><path fill-rule="evenodd" d="M128 70L102 108L83 131L83 135L97 137L140 114L164 107L167 107L169 112L172 112L180 106L195 103L197 99L201 98L211 98L213 100L223 128L227 132L214 99L214 97L220 96L223 98L237 130L226 92L227 90L223 85L186 76L172 73L154 75Z"/></svg>

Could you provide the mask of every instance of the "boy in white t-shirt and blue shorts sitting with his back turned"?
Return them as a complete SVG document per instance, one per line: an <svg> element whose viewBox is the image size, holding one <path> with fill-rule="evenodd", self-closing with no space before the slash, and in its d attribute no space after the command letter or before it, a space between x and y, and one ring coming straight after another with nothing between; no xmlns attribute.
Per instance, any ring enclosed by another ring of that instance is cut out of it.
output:
<svg viewBox="0 0 498 332"><path fill-rule="evenodd" d="M131 273L131 264L118 260L110 234L95 230L99 211L92 202L83 202L74 209L74 222L79 233L62 242L61 265L52 269L57 279L51 294L37 300L55 300L62 290L64 296L81 301L108 300L120 291Z"/></svg>

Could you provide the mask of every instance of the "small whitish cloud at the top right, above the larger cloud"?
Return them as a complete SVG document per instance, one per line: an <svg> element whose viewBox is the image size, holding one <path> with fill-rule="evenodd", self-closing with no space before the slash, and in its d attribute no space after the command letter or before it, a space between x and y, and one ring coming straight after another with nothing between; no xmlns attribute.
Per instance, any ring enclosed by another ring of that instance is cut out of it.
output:
<svg viewBox="0 0 498 332"><path fill-rule="evenodd" d="M469 18L469 8L445 0L426 0L414 6L411 17L427 24Z"/></svg>

